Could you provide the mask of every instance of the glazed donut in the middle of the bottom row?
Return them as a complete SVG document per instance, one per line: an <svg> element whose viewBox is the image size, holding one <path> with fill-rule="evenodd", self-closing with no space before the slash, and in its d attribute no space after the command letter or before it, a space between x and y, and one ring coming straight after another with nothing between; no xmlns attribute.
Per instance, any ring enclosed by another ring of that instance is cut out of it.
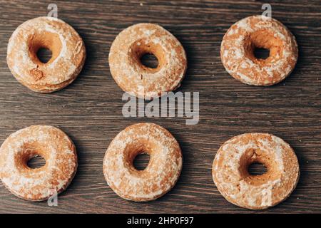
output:
<svg viewBox="0 0 321 228"><path fill-rule="evenodd" d="M135 157L151 158L145 170L136 170ZM103 174L123 199L149 201L168 192L182 169L180 146L168 130L153 123L137 123L118 133L103 159Z"/></svg>

